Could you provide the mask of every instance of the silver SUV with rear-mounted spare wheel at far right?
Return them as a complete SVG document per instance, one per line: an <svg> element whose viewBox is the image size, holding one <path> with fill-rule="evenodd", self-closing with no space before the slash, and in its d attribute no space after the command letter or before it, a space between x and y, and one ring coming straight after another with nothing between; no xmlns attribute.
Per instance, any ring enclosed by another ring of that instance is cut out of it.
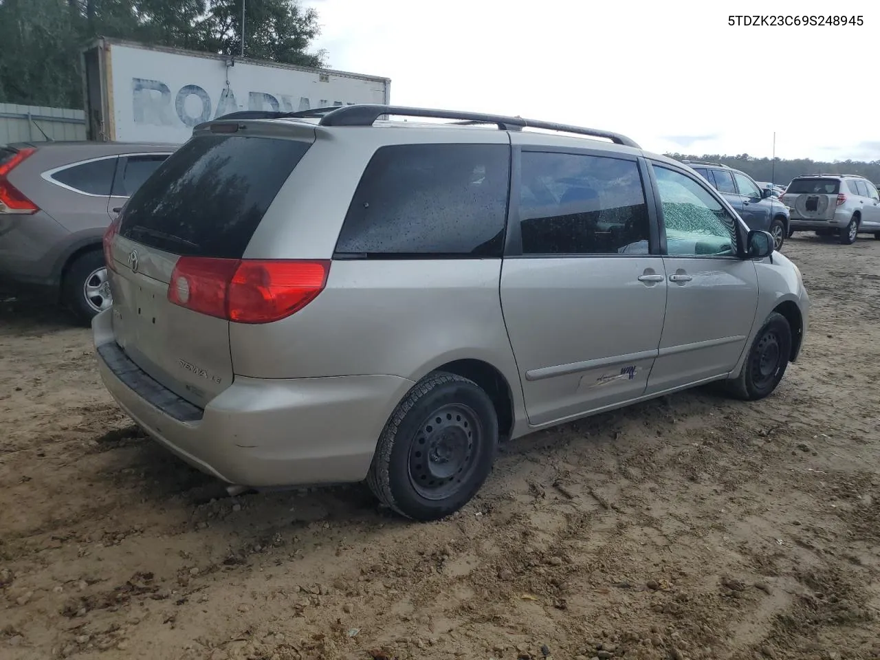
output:
<svg viewBox="0 0 880 660"><path fill-rule="evenodd" d="M869 180L855 174L810 174L788 184L782 197L791 208L792 231L840 236L852 245L860 234L880 240L880 194Z"/></svg>

